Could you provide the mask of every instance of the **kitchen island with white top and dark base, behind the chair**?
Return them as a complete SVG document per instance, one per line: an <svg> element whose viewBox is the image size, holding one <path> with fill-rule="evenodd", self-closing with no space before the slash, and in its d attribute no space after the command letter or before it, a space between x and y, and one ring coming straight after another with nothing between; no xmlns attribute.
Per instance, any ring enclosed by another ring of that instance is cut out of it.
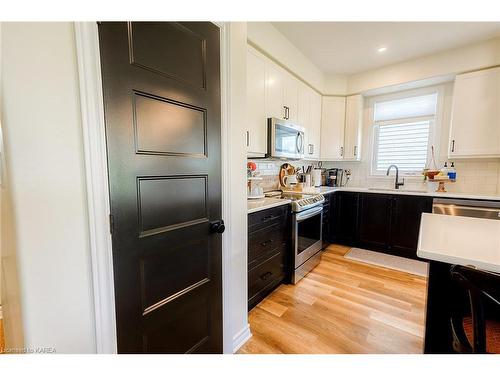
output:
<svg viewBox="0 0 500 375"><path fill-rule="evenodd" d="M455 353L451 317L469 314L465 289L451 277L453 265L500 272L500 220L423 214L417 249L430 262L424 352ZM487 317L500 321L498 310Z"/></svg>

